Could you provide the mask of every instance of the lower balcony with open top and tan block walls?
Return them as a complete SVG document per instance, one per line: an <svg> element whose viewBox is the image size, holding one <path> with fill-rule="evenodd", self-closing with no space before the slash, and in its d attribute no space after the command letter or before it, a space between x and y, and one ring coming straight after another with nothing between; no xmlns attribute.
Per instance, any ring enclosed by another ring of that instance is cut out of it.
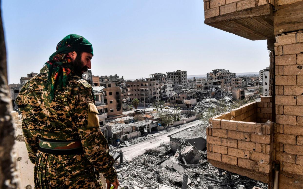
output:
<svg viewBox="0 0 303 189"><path fill-rule="evenodd" d="M207 158L212 165L270 183L273 159L271 97L210 118ZM269 121L268 121L269 120Z"/></svg>

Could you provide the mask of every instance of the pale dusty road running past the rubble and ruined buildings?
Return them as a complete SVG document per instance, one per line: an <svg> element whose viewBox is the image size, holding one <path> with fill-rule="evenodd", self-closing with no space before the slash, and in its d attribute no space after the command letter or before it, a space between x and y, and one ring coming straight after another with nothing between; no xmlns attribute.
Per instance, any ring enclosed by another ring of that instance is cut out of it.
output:
<svg viewBox="0 0 303 189"><path fill-rule="evenodd" d="M167 137L168 135L171 135L171 134L177 133L179 131L182 131L184 129L187 129L189 127L198 125L199 123L201 123L201 121L199 121L199 120L194 121L194 122L186 123L188 125L185 126L185 127L181 127L179 129L176 129L176 130L174 130L172 132L169 132L165 135L161 135L161 136L158 136L158 137L155 137L155 138L151 138L149 140L145 140L145 141L140 142L138 144L123 147L123 148L121 148L121 150L122 150L126 160L130 161L130 160L132 160L132 158L137 157L138 155L144 154L145 149L157 148L158 146L160 146L161 142L168 143L169 142L169 137Z"/></svg>

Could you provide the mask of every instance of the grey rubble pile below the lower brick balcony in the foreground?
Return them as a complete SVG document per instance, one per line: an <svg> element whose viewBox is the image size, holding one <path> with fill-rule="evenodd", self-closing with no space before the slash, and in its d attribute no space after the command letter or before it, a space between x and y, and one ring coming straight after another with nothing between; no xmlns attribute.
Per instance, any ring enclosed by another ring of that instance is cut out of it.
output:
<svg viewBox="0 0 303 189"><path fill-rule="evenodd" d="M166 152L164 147L148 150L132 161L115 164L124 189L238 189L245 185L267 189L267 185L246 177L213 167L207 163L206 152L188 143L180 145L176 153Z"/></svg>

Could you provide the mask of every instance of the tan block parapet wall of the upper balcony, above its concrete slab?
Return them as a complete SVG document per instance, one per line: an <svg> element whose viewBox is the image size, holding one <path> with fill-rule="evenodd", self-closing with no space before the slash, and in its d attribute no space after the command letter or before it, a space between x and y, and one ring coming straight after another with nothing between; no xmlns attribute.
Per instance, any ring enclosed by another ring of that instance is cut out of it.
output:
<svg viewBox="0 0 303 189"><path fill-rule="evenodd" d="M205 18L266 5L272 0L204 0Z"/></svg>

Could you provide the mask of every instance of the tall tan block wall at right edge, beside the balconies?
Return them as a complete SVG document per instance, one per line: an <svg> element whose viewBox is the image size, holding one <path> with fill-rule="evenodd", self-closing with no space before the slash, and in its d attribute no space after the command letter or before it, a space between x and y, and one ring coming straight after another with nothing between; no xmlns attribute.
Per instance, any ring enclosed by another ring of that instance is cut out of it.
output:
<svg viewBox="0 0 303 189"><path fill-rule="evenodd" d="M281 171L298 175L303 175L302 52L303 31L276 36L274 160Z"/></svg>

